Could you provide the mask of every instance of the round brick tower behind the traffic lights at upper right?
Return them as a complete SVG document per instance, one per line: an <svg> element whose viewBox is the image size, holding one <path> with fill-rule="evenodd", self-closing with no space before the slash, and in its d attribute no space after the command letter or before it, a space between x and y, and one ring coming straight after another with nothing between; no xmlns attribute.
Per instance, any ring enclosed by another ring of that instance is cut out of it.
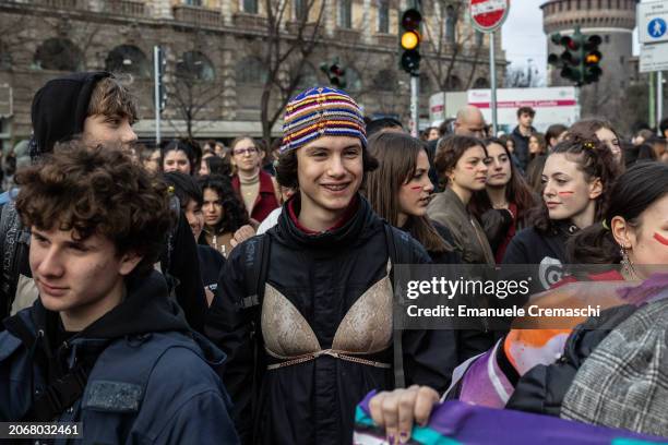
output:
<svg viewBox="0 0 668 445"><path fill-rule="evenodd" d="M563 47L552 44L550 35L557 32L571 35L576 25L583 34L601 37L603 75L598 82L582 87L582 116L603 116L622 129L628 128L631 119L623 107L624 96L637 80L632 48L636 3L637 0L550 0L540 7L548 53L563 51ZM559 69L548 67L548 84L569 85L570 81L559 74Z"/></svg>

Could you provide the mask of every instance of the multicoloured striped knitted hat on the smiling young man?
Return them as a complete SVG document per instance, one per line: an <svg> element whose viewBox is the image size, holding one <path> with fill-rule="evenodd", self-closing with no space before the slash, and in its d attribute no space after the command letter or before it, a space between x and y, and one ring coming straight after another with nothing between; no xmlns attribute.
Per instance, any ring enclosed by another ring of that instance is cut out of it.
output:
<svg viewBox="0 0 668 445"><path fill-rule="evenodd" d="M346 93L319 86L294 97L285 107L281 154L321 136L358 137L367 146L361 110Z"/></svg>

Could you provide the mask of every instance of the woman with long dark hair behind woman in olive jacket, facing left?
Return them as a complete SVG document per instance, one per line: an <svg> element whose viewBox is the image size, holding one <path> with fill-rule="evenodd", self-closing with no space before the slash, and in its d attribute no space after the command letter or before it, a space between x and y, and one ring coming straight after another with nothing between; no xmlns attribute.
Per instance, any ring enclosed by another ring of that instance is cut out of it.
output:
<svg viewBox="0 0 668 445"><path fill-rule="evenodd" d="M474 193L468 208L480 220L494 258L501 263L515 232L526 226L536 200L503 142L490 137L485 145L489 156L487 187Z"/></svg>

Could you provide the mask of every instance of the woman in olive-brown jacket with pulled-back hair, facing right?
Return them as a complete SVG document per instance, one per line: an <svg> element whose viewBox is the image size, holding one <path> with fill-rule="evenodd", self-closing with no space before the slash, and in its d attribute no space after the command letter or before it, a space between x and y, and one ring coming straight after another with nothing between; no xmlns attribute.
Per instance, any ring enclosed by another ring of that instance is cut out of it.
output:
<svg viewBox="0 0 668 445"><path fill-rule="evenodd" d="M445 226L464 263L494 264L485 231L466 208L475 192L485 190L488 172L485 145L475 137L451 136L440 141L434 157L439 177L446 181L442 193L429 203L429 217Z"/></svg>

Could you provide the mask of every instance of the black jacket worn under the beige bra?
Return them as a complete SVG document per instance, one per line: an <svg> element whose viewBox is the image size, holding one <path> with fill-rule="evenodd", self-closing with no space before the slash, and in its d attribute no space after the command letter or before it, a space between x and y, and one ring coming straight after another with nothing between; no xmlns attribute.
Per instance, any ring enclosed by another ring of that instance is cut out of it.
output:
<svg viewBox="0 0 668 445"><path fill-rule="evenodd" d="M295 197L298 200L299 195ZM298 206L298 201L296 202ZM271 237L267 282L299 311L318 337L331 348L341 321L369 287L386 275L389 251L384 225L366 200L343 227L309 236L283 212ZM322 356L315 360L264 371L252 422L253 317L238 304L247 296L248 240L236 248L223 270L207 317L206 334L227 354L224 378L235 404L242 442L254 431L262 444L346 444L351 442L356 405L371 389L391 389L392 369ZM429 263L427 253L410 237L403 248L410 263ZM406 384L446 388L457 364L452 332L410 330L403 334ZM263 349L262 349L263 351ZM392 363L393 348L367 360ZM261 353L263 369L276 360Z"/></svg>

